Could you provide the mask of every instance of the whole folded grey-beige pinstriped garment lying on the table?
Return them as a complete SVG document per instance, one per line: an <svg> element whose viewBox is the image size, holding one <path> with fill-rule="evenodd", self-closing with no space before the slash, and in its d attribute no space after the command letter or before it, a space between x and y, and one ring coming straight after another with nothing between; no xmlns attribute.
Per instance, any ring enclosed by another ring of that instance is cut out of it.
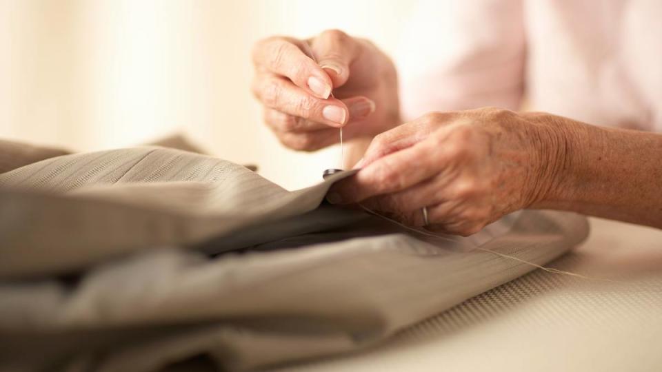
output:
<svg viewBox="0 0 662 372"><path fill-rule="evenodd" d="M588 234L581 216L522 211L468 238L416 236L321 205L350 174L288 192L161 147L1 174L0 368L205 355L251 369L350 351L534 269L489 251L543 265Z"/></svg>

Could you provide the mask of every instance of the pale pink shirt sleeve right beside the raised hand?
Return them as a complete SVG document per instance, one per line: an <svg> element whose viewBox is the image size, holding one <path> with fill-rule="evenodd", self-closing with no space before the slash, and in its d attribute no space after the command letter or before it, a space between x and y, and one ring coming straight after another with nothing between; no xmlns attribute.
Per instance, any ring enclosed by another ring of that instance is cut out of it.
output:
<svg viewBox="0 0 662 372"><path fill-rule="evenodd" d="M398 59L403 118L497 106L523 95L521 0L423 0Z"/></svg>

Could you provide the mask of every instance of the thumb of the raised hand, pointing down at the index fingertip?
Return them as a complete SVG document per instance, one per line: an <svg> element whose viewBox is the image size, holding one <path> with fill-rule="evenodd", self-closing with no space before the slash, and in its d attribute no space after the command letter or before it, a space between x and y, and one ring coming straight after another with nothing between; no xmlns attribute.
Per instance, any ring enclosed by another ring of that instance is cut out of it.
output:
<svg viewBox="0 0 662 372"><path fill-rule="evenodd" d="M317 63L327 72L334 87L344 85L350 77L350 64L357 57L357 42L340 30L326 30L312 39L311 49Z"/></svg>

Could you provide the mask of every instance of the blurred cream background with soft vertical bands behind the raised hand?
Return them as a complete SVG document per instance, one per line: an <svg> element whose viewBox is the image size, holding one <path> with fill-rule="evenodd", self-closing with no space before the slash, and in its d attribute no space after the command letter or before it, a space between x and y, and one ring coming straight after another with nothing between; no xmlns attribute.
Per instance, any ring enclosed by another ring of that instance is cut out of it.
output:
<svg viewBox="0 0 662 372"><path fill-rule="evenodd" d="M412 1L0 0L0 138L73 151L183 133L288 189L339 148L280 145L250 94L255 41L339 28L389 54Z"/></svg>

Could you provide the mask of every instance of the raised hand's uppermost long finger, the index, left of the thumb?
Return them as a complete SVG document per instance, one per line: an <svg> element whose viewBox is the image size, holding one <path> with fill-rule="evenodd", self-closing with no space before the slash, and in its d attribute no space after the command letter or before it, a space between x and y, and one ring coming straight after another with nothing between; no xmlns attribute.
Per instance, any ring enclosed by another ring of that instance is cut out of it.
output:
<svg viewBox="0 0 662 372"><path fill-rule="evenodd" d="M321 99L328 99L332 90L329 75L307 56L295 39L272 37L259 41L253 50L257 68L285 76L301 89Z"/></svg>

